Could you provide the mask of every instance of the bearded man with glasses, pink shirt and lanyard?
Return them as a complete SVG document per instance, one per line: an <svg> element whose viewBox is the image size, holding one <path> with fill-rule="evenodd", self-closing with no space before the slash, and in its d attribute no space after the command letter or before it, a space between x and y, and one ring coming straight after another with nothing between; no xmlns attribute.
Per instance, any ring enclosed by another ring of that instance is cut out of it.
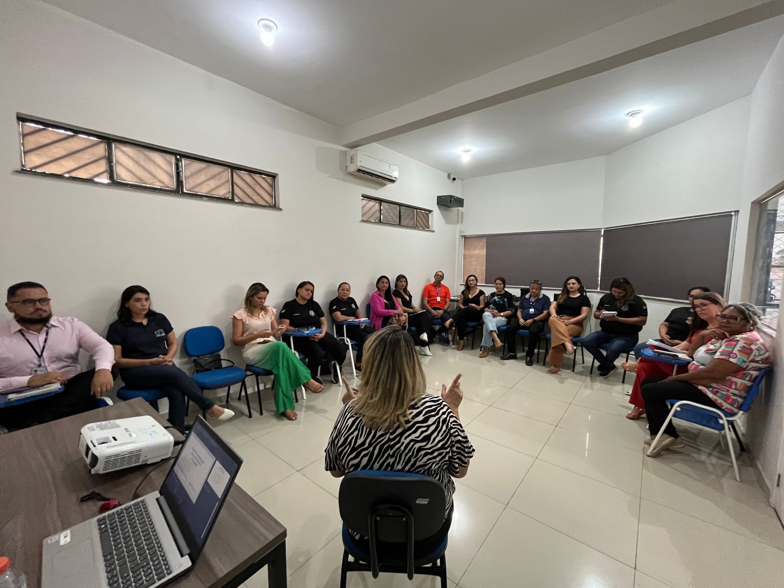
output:
<svg viewBox="0 0 784 588"><path fill-rule="evenodd" d="M22 429L95 408L114 385L114 350L92 328L73 317L54 317L46 289L23 281L8 289L5 307L13 318L0 325L0 394L60 383L60 394L0 409L0 426ZM82 371L79 350L95 360Z"/></svg>

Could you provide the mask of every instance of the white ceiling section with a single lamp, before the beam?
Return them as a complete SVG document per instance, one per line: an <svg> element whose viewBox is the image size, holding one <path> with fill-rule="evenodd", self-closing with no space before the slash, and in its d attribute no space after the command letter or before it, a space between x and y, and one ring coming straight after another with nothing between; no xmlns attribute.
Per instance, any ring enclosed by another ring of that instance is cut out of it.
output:
<svg viewBox="0 0 784 588"><path fill-rule="evenodd" d="M672 0L47 0L344 126ZM278 24L272 48L256 22Z"/></svg>

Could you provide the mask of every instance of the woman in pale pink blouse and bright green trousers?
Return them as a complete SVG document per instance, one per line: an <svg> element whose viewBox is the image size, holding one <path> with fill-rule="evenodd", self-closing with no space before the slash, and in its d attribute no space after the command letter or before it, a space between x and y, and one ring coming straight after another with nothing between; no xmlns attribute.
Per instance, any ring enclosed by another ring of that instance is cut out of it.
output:
<svg viewBox="0 0 784 588"><path fill-rule="evenodd" d="M267 306L267 286L256 282L245 294L245 307L231 317L231 343L242 346L242 358L250 365L268 369L275 376L275 410L289 420L296 420L294 390L304 386L310 392L324 390L321 382L310 378L310 370L299 361L281 336L284 327L275 319L277 311Z"/></svg>

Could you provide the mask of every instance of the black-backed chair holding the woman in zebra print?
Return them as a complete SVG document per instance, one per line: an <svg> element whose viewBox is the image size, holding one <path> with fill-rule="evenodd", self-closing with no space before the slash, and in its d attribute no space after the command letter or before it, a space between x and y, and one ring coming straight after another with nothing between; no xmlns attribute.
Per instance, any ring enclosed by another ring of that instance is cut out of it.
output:
<svg viewBox="0 0 784 588"><path fill-rule="evenodd" d="M406 574L409 580L414 574L437 575L446 588L452 513L445 520L440 482L423 474L359 470L343 478L338 505L343 519L340 588L346 588L348 572L371 572L373 578L379 572Z"/></svg>

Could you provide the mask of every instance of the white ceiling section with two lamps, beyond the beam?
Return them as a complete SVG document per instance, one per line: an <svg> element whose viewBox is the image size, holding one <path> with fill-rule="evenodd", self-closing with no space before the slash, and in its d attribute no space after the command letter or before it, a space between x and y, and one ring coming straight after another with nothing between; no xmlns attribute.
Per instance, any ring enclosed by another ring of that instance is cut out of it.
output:
<svg viewBox="0 0 784 588"><path fill-rule="evenodd" d="M381 144L463 178L612 153L751 93L782 34L777 16Z"/></svg>

